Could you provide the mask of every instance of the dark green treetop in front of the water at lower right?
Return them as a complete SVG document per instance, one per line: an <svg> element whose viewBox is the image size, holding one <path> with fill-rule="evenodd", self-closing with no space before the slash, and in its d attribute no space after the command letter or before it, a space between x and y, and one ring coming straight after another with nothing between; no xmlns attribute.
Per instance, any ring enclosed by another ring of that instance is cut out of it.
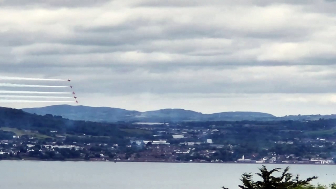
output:
<svg viewBox="0 0 336 189"><path fill-rule="evenodd" d="M300 189L308 186L313 179L317 178L310 177L306 180L300 180L299 175L293 176L293 174L288 173L289 167L286 167L279 177L273 176L273 173L280 172L281 168L268 171L263 165L259 170L260 173L256 174L262 180L255 182L252 180L253 175L251 173L244 173L240 179L242 182L242 185L239 186L240 189ZM222 189L227 188L222 187Z"/></svg>

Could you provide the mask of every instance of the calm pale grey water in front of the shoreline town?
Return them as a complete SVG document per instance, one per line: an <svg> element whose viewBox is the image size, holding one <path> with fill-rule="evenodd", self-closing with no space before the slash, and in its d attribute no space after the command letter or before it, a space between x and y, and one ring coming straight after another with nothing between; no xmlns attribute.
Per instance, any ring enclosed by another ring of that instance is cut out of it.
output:
<svg viewBox="0 0 336 189"><path fill-rule="evenodd" d="M238 189L255 164L0 161L3 189ZM268 168L286 165L267 165ZM290 165L315 183L336 182L335 165Z"/></svg>

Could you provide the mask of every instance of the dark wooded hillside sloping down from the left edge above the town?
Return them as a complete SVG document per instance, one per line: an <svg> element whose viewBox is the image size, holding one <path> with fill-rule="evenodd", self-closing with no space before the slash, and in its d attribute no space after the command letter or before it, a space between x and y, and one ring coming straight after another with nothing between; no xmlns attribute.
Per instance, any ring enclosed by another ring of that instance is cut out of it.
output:
<svg viewBox="0 0 336 189"><path fill-rule="evenodd" d="M0 107L0 127L1 129L6 127L33 130L47 135L50 131L57 131L58 134L110 136L114 137L113 140L121 140L126 135L125 132L120 131L117 124L113 123L70 120L52 115L34 115L23 110L4 107Z"/></svg>

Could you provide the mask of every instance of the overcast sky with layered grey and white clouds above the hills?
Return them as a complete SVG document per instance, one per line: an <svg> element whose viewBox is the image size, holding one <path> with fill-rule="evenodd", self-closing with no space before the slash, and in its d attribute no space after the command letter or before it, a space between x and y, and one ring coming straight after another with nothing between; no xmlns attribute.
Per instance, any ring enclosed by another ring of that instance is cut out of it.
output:
<svg viewBox="0 0 336 189"><path fill-rule="evenodd" d="M88 106L336 114L334 0L34 2L0 0L2 76L70 78Z"/></svg>

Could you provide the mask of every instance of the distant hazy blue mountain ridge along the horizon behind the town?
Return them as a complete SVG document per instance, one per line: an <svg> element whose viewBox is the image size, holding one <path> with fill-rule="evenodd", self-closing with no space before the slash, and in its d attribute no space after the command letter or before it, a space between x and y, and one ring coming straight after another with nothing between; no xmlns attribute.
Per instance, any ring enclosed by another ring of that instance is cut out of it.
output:
<svg viewBox="0 0 336 189"><path fill-rule="evenodd" d="M156 111L138 112L109 107L88 107L55 105L42 108L25 108L25 112L38 115L58 115L63 118L90 121L207 121L207 120L261 120L276 118L271 114L260 112L222 112L216 114L202 114L184 109L163 109Z"/></svg>

